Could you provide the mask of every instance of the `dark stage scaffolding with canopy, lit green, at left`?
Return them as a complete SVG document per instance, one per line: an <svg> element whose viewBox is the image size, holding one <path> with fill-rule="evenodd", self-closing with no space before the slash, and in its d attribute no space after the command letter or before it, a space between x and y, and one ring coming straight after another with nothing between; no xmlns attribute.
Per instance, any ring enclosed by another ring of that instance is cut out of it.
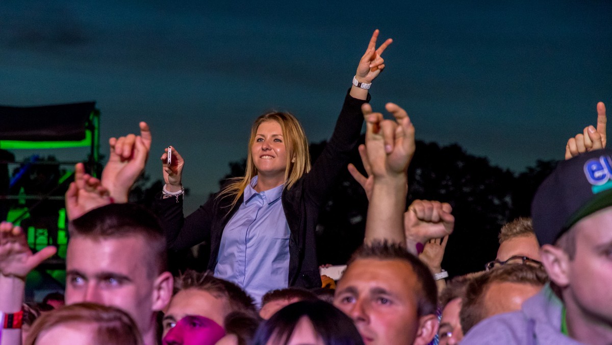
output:
<svg viewBox="0 0 612 345"><path fill-rule="evenodd" d="M40 294L58 290L58 286L61 288L65 281L67 232L63 203L64 192L73 180L73 167L83 162L92 175L100 173L100 112L95 108L95 102L36 107L0 106L0 119L0 217L17 224L28 224L30 219L30 223L36 225L36 222L32 222L32 216L45 213L43 209L48 205L62 205L56 214L58 233L54 245L58 246L58 256L46 260L28 276L28 285L32 289L26 292L26 299L40 300ZM48 161L42 158L44 154L53 154L54 149L64 148L89 150L83 154L82 161ZM34 150L37 154L32 155L29 161L16 162L10 153L14 150ZM47 171L45 169L56 169L62 173L59 174L61 176L54 176L53 180L37 181L52 184L44 192L28 194L24 188L16 189L28 178L40 180L40 176L35 175ZM10 176L11 172L15 173ZM50 240L49 229L29 226L26 231L28 244L34 251L46 246Z"/></svg>

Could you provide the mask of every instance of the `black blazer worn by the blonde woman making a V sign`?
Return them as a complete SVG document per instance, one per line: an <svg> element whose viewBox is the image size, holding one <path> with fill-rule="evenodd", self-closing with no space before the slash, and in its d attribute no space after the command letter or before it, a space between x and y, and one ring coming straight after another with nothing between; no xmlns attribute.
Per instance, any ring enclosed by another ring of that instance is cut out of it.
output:
<svg viewBox="0 0 612 345"><path fill-rule="evenodd" d="M350 90L349 90L350 91ZM321 287L316 259L315 228L321 203L326 201L330 186L339 173L346 169L349 154L359 140L364 116L361 105L370 101L345 97L334 133L326 148L309 173L300 178L291 189L284 189L281 197L283 210L291 232L289 239L289 286ZM208 269L214 271L225 225L242 203L242 196L230 209L232 197L218 197L218 193L198 210L184 218L182 199L174 197L155 199L153 208L166 233L168 248L190 248L203 241L211 246ZM266 274L262 268L261 274Z"/></svg>

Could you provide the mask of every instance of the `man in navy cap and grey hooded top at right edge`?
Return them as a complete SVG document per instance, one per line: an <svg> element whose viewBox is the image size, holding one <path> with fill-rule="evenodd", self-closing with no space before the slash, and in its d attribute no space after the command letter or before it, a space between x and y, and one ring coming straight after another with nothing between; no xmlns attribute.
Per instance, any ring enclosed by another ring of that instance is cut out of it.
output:
<svg viewBox="0 0 612 345"><path fill-rule="evenodd" d="M463 344L612 344L612 151L560 162L532 218L550 286L521 311L483 320Z"/></svg>

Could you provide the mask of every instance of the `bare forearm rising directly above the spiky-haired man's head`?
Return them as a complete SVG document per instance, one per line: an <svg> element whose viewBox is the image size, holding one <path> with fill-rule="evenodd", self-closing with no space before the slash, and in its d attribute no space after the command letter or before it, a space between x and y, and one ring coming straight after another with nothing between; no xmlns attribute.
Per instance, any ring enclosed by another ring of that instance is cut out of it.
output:
<svg viewBox="0 0 612 345"><path fill-rule="evenodd" d="M365 243L387 240L405 245L403 214L406 192L405 176L375 178L365 222Z"/></svg>

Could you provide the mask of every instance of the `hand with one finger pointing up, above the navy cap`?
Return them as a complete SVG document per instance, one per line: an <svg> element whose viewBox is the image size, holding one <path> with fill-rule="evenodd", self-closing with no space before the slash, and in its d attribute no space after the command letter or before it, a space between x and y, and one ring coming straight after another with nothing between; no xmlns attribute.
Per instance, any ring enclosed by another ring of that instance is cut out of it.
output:
<svg viewBox="0 0 612 345"><path fill-rule="evenodd" d="M597 103L597 128L586 126L583 132L567 140L565 145L565 159L578 156L592 150L606 147L606 106L603 102Z"/></svg>

